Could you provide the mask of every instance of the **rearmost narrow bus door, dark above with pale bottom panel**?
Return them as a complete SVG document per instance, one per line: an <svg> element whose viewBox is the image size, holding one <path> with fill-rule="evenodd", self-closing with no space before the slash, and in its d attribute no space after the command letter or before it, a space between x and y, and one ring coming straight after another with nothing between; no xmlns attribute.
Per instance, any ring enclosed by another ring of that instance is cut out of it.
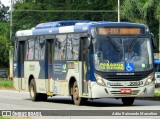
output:
<svg viewBox="0 0 160 119"><path fill-rule="evenodd" d="M25 41L20 41L18 46L18 87L19 90L25 89L24 80L24 58L25 58Z"/></svg>

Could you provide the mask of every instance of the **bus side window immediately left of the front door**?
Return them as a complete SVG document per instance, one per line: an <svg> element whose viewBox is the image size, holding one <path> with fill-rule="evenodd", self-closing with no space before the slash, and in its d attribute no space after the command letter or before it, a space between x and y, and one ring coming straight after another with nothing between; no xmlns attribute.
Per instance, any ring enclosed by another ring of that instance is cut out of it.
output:
<svg viewBox="0 0 160 119"><path fill-rule="evenodd" d="M80 38L77 34L69 34L67 38L67 56L68 60L77 60L79 56Z"/></svg>

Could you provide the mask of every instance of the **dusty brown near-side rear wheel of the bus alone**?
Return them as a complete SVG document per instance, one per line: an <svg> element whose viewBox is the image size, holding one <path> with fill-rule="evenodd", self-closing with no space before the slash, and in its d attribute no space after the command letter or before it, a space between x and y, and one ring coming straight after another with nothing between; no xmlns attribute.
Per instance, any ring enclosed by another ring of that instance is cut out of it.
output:
<svg viewBox="0 0 160 119"><path fill-rule="evenodd" d="M35 83L34 79L32 79L30 82L29 92L30 92L30 98L32 101L39 100L39 96L38 96L37 89L36 89L36 83Z"/></svg>

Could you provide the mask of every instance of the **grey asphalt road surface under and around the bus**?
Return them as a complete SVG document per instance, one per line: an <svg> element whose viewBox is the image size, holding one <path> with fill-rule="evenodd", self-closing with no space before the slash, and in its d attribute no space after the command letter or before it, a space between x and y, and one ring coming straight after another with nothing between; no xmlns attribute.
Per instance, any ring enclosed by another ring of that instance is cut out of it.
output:
<svg viewBox="0 0 160 119"><path fill-rule="evenodd" d="M105 99L96 99L96 100L89 100L86 105L83 106L76 106L73 104L70 97L63 97L63 96L55 96L49 97L47 102L32 102L30 100L30 96L28 92L18 92L18 91L8 91L8 90L0 90L0 110L101 110L102 116L94 116L92 119L101 119L103 118L106 111L115 110L123 111L123 110L159 110L160 111L160 101L148 101L148 100L135 100L132 106L123 106L121 100L117 100L114 98L105 98ZM77 111L78 112L78 111ZM95 111L96 112L96 111ZM100 112L100 111L99 111ZM64 112L62 112L64 113ZM68 112L66 112L68 113ZM69 112L71 113L71 112ZM73 112L76 113L76 112ZM94 113L87 112L86 113ZM60 115L55 116L54 118L58 118ZM83 115L82 115L83 116ZM120 115L122 118L122 115ZM130 116L130 115L129 115ZM60 118L80 118L81 116L60 116ZM87 117L83 117L88 118ZM109 118L110 116L107 116ZM35 118L35 117L34 117ZM36 117L42 118L42 117ZM45 117L46 118L46 117ZM49 118L49 117L47 117ZM104 117L106 118L106 117ZM119 118L118 116L110 118ZM126 116L125 116L126 118ZM137 118L136 116L132 118ZM141 118L151 118L142 116ZM152 118L158 119L155 115Z"/></svg>

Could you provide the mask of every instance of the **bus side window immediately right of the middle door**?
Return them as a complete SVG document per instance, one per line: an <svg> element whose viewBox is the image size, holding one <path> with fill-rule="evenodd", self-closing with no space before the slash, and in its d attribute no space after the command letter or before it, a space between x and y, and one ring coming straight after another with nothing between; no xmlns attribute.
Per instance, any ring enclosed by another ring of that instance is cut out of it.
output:
<svg viewBox="0 0 160 119"><path fill-rule="evenodd" d="M55 60L64 60L66 56L66 35L57 35L55 40Z"/></svg>

